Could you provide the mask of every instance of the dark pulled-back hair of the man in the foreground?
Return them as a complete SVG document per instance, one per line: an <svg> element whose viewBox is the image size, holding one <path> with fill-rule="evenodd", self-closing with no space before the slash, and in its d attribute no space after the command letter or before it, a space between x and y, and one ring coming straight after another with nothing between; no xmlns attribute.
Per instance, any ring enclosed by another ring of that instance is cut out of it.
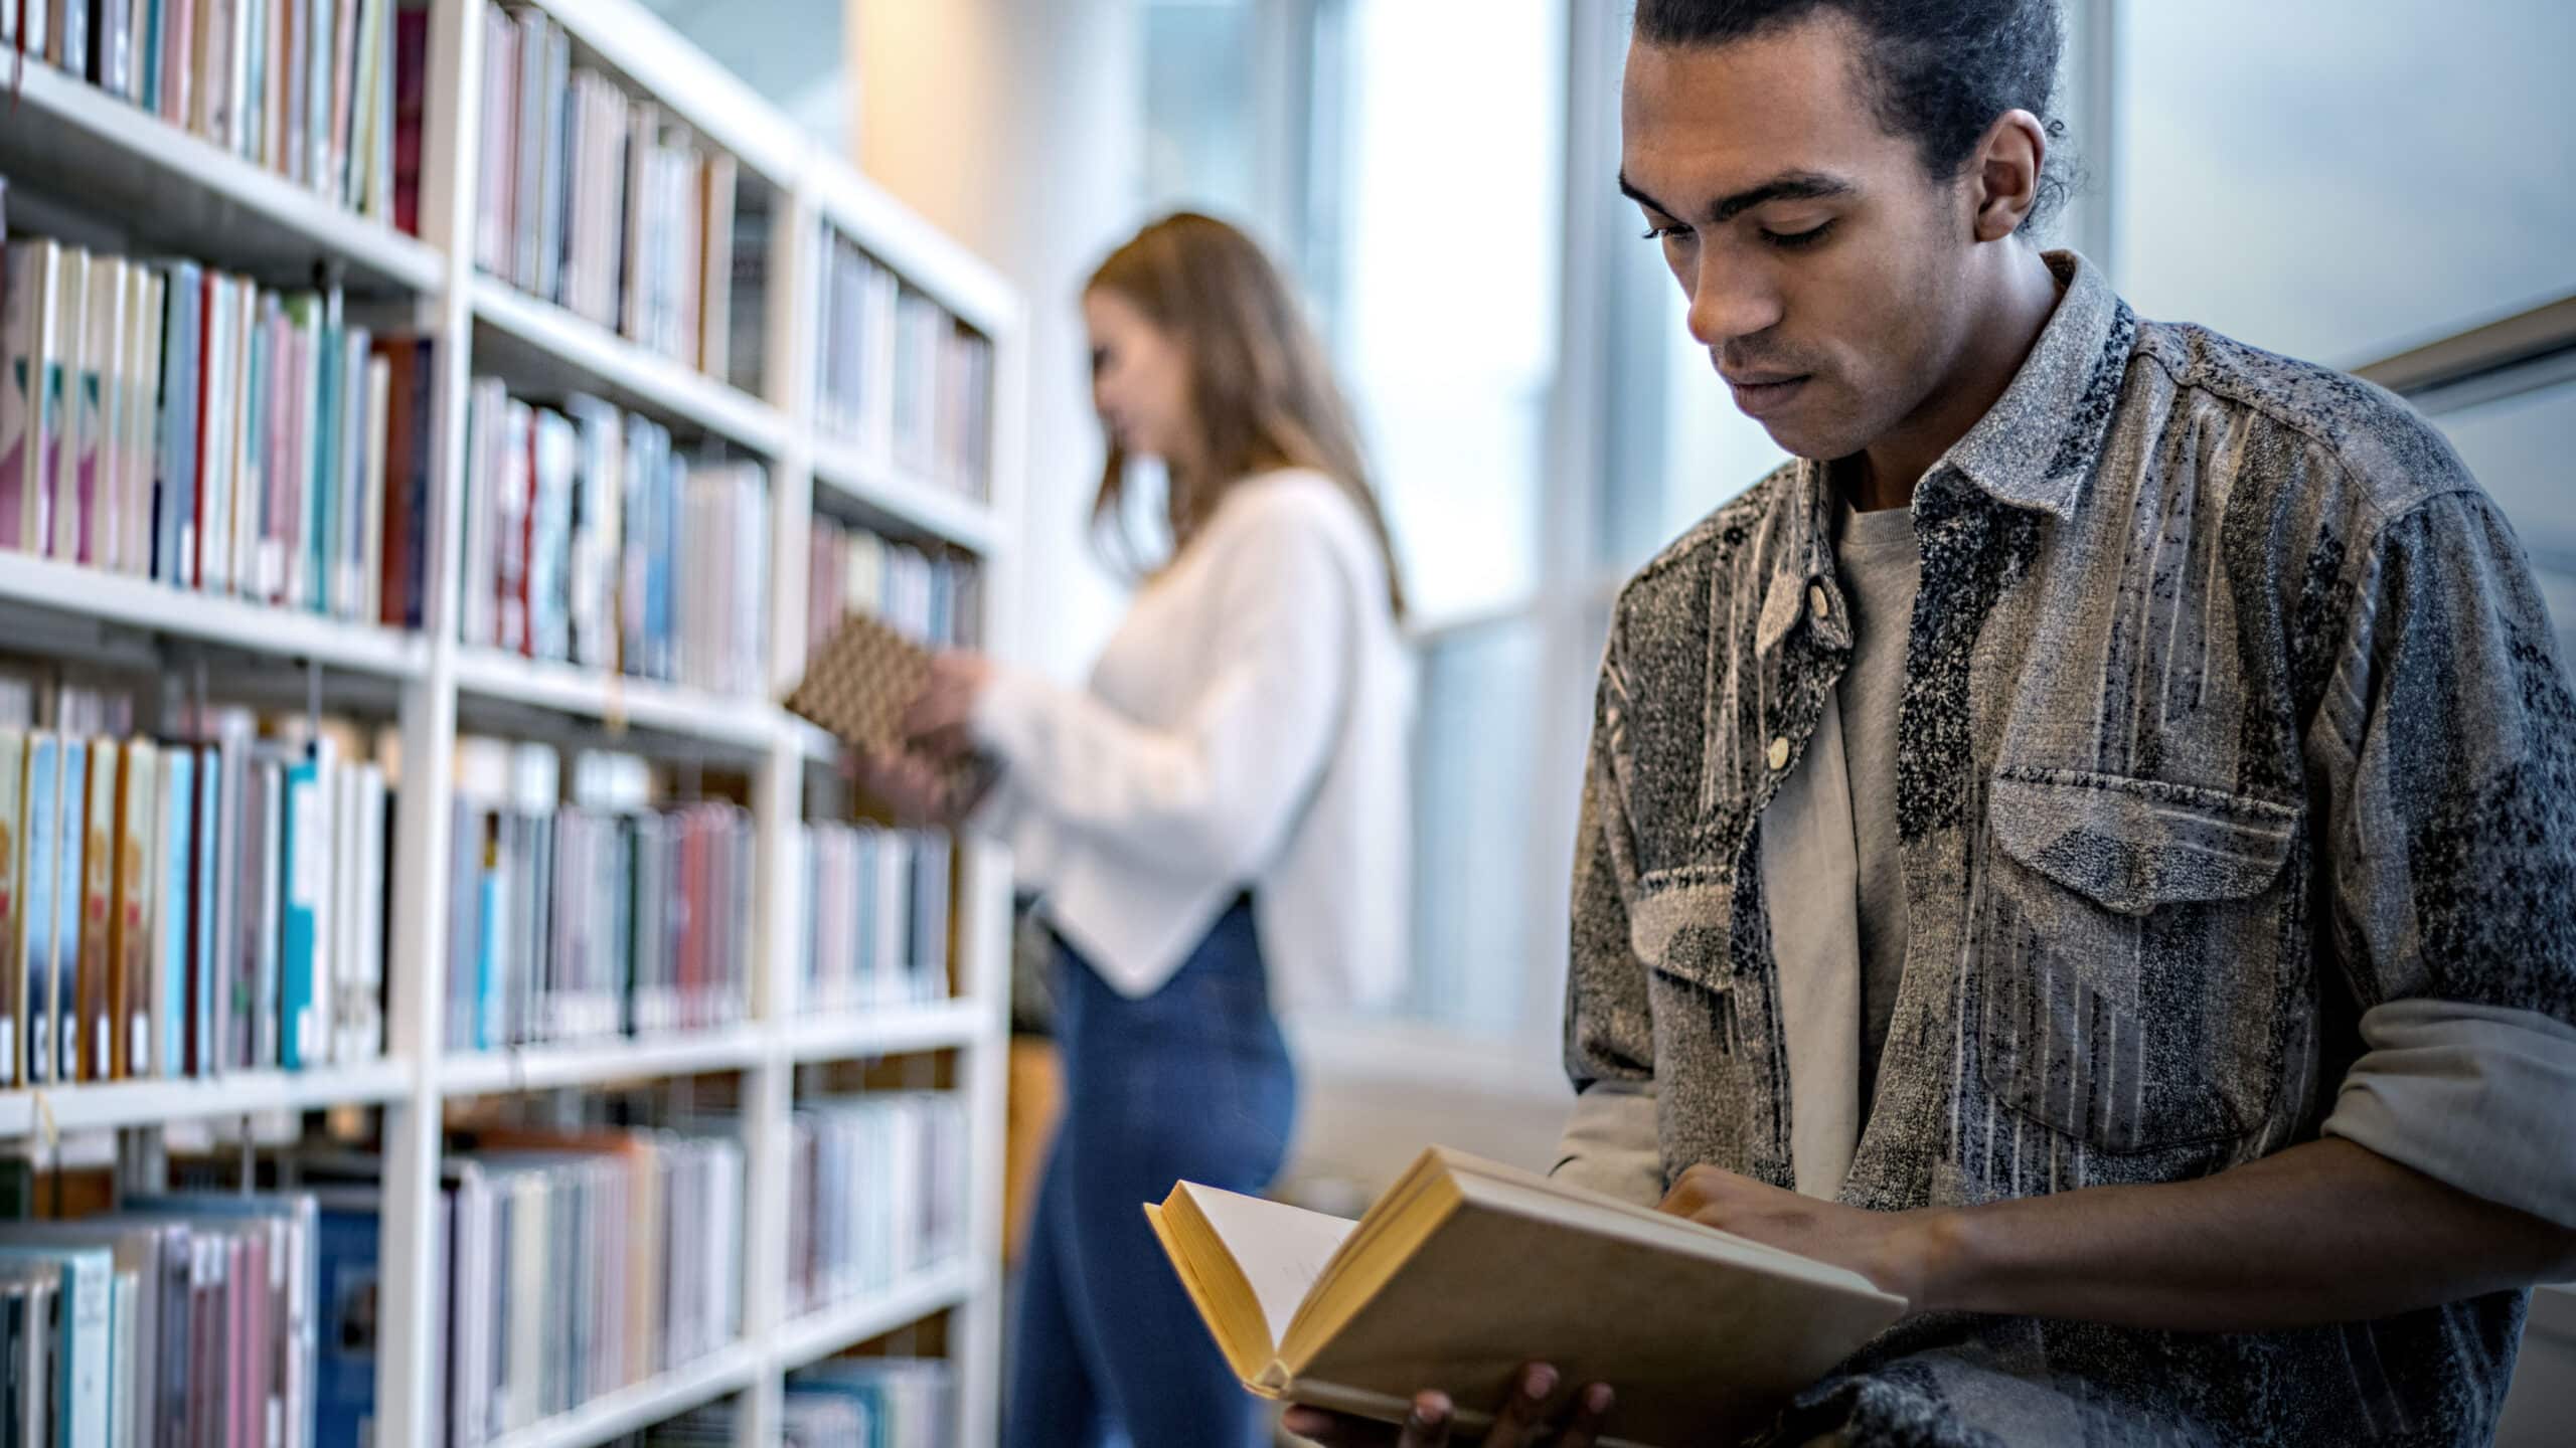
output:
<svg viewBox="0 0 2576 1448"><path fill-rule="evenodd" d="M2004 111L2030 111L2048 139L2066 23L2058 0L1638 0L1636 39L1654 46L1721 46L1819 10L1847 15L1868 36L1862 67L1878 124L1906 137L1924 170L1953 180ZM2022 219L2035 232L2074 191L2074 167L2050 144L2040 193Z"/></svg>

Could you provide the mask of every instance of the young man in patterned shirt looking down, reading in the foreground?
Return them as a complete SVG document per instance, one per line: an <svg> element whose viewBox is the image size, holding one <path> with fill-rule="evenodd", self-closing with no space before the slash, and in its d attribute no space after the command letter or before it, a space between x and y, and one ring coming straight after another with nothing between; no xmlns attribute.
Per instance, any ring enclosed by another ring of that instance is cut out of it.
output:
<svg viewBox="0 0 2576 1448"><path fill-rule="evenodd" d="M2058 46L1638 5L1623 191L1795 459L1613 621L1561 1175L1909 1299L1767 1440L2483 1443L2576 1278L2576 698L2421 417L2027 240Z"/></svg>

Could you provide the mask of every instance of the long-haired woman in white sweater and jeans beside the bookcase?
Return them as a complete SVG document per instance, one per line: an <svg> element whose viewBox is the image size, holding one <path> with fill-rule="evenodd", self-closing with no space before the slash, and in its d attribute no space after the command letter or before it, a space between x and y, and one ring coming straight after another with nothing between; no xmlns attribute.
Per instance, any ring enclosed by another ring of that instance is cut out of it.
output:
<svg viewBox="0 0 2576 1448"><path fill-rule="evenodd" d="M1005 1443L1249 1445L1236 1384L1144 1221L1175 1180L1257 1193L1296 1080L1273 1005L1401 976L1412 665L1350 410L1260 247L1180 214L1082 294L1115 528L1170 477L1172 557L1087 691L971 654L912 703L917 757L863 760L904 812L1015 850L1056 935L1066 1110L1010 1337ZM938 760L981 752L976 801Z"/></svg>

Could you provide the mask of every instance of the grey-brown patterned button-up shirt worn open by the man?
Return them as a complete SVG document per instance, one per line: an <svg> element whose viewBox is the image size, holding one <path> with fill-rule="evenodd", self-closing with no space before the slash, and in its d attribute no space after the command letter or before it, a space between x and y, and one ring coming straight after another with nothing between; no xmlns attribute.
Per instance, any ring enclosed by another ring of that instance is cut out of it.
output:
<svg viewBox="0 0 2576 1448"><path fill-rule="evenodd" d="M2388 1002L2576 1023L2576 698L2494 502L2385 392L2050 265L2022 371L1914 492L1911 946L1852 1206L2313 1139ZM1770 910L1795 891L1765 894L1759 824L1852 649L1829 505L1785 464L1613 618L1566 1067L1654 1087L1667 1180L1790 1185ZM1780 1433L2478 1443L2524 1306L2259 1335L1932 1314Z"/></svg>

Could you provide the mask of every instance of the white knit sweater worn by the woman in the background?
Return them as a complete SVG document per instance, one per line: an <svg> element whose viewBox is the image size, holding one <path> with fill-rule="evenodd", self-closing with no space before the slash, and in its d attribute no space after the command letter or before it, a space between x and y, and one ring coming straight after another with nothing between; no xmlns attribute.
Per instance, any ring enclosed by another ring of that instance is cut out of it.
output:
<svg viewBox="0 0 2576 1448"><path fill-rule="evenodd" d="M1365 1005L1404 979L1412 701L1360 510L1262 474L1139 593L1087 691L994 672L971 727L1005 770L969 824L1123 995L1249 889L1273 1000Z"/></svg>

